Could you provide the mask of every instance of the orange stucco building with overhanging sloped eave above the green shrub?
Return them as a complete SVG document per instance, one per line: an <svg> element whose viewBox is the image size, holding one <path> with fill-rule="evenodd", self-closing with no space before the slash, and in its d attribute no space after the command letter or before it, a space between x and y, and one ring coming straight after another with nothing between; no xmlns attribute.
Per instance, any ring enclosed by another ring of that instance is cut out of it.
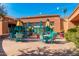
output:
<svg viewBox="0 0 79 59"><path fill-rule="evenodd" d="M79 5L74 9L72 14L64 21L64 31L79 25Z"/></svg>

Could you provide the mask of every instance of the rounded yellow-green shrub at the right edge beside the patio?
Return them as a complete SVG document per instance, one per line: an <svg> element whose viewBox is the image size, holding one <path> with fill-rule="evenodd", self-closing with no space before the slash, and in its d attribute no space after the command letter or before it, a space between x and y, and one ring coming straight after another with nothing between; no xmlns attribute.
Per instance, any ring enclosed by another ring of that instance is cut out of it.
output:
<svg viewBox="0 0 79 59"><path fill-rule="evenodd" d="M65 33L65 38L67 41L74 42L79 47L79 30L77 27L69 29Z"/></svg>

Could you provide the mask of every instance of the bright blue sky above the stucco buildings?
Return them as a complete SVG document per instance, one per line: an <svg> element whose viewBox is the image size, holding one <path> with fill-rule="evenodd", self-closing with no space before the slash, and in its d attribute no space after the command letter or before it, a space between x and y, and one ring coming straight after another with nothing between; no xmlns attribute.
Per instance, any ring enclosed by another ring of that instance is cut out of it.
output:
<svg viewBox="0 0 79 59"><path fill-rule="evenodd" d="M63 17L63 8L67 8L66 16L69 16L77 7L77 3L6 3L9 16L20 18L27 16L39 16L58 14ZM58 9L57 9L58 8Z"/></svg>

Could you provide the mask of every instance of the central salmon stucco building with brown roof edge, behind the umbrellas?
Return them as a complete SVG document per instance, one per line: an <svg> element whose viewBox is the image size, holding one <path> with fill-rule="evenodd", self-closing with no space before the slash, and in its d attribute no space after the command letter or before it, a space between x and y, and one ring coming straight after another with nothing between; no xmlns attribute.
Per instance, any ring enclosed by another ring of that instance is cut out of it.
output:
<svg viewBox="0 0 79 59"><path fill-rule="evenodd" d="M31 24L39 24L40 20L42 20L43 25L45 26L46 20L49 19L52 25L52 29L56 32L63 31L63 19L60 18L59 15L42 15L42 16L34 16L34 17L23 17L20 18L23 23L30 22Z"/></svg>

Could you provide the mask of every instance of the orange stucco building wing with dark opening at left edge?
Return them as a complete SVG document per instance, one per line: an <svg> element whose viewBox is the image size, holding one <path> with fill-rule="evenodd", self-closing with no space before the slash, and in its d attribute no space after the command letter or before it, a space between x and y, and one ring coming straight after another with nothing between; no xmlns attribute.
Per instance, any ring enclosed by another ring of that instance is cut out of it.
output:
<svg viewBox="0 0 79 59"><path fill-rule="evenodd" d="M8 16L0 17L0 35L8 35L9 28L15 26L15 24L16 20L14 18Z"/></svg>

